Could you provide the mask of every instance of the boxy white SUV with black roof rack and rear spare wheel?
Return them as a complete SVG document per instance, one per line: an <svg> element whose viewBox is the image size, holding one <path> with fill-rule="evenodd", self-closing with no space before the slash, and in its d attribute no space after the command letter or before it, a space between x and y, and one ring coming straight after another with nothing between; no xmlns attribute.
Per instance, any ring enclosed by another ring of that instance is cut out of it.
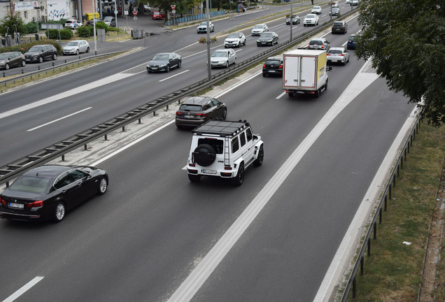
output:
<svg viewBox="0 0 445 302"><path fill-rule="evenodd" d="M230 178L242 185L248 166L261 166L263 142L246 121L209 120L192 131L187 172L192 182L202 175Z"/></svg>

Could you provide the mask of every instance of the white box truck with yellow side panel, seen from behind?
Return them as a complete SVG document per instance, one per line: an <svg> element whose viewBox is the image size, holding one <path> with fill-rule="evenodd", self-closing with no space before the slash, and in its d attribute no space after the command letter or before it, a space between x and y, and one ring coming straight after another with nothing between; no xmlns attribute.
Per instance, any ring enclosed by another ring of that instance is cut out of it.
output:
<svg viewBox="0 0 445 302"><path fill-rule="evenodd" d="M327 89L325 50L290 50L283 54L283 89L293 96L313 94L318 98Z"/></svg>

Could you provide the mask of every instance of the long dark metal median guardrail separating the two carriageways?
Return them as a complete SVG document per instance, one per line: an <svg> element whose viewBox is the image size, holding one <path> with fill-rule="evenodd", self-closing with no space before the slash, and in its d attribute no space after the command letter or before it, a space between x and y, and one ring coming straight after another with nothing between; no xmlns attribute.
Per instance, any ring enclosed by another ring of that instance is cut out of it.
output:
<svg viewBox="0 0 445 302"><path fill-rule="evenodd" d="M343 17L347 17L355 13L355 11L351 11L348 14L345 14ZM333 21L332 21L333 22ZM156 113L156 110L169 106L169 104L174 103L175 101L181 101L183 96L190 95L195 92L199 92L202 89L207 87L211 87L215 85L217 82L225 80L232 75L236 75L243 69L248 69L250 66L256 65L258 62L266 59L271 55L275 55L283 50L286 50L292 45L295 45L301 41L303 41L310 33L316 31L322 31L327 27L330 27L332 22L328 22L327 24L318 25L314 27L310 31L306 31L304 34L300 34L295 38L292 38L292 41L285 41L279 45L276 45L268 50L262 52L259 55L255 55L246 61L243 61L235 66L230 67L229 69L225 69L225 71L221 71L220 73L216 73L212 75L211 80L208 79L200 80L195 84L192 84L188 87L184 87L182 89L178 89L175 92L171 92L165 96L162 96L158 99L150 101L149 103L145 103L142 106L134 108L133 110L127 111L127 113L122 113L118 117L115 117L111 120L98 124L96 127L92 127L87 129L80 134L76 134L69 138L66 138L63 141L59 141L53 145L48 146L47 148L43 148L42 150L38 150L32 154L27 155L26 157L22 157L21 159L17 159L10 164L0 167L0 185L6 183L6 186L9 186L9 181L20 176L24 171L29 170L30 168L34 168L41 164L44 164L52 159L56 159L57 157L62 157L62 161L64 161L64 156L66 153L71 152L77 148L84 146L85 150L87 150L87 143L97 140L98 138L104 136L105 140L107 139L107 134L116 129L122 128L125 130L125 126L132 122L136 122L136 120L141 122L141 117L148 115L150 113ZM70 63L71 64L71 63Z"/></svg>

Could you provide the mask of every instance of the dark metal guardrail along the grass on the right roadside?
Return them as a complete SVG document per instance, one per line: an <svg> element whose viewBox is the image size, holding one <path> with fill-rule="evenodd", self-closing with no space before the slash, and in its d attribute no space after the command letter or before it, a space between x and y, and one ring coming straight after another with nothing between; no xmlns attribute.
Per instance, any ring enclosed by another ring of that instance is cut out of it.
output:
<svg viewBox="0 0 445 302"><path fill-rule="evenodd" d="M400 156L395 161L395 165L393 168L393 172L390 174L388 178L388 185L386 185L385 190L381 196L379 206L376 208L374 213L374 217L372 217L372 222L369 225L368 231L366 233L365 239L363 240L362 247L360 248L360 252L358 253L357 260L355 261L355 265L351 275L348 279L348 284L346 285L343 296L341 296L341 302L346 302L348 299L349 292L351 291L351 287L353 289L353 298L355 298L355 276L357 275L358 268L360 267L360 275L363 275L363 267L365 263L364 254L367 250L368 257L371 256L371 234L374 233L374 239L377 238L377 218L379 218L379 224L382 221L382 207L386 212L388 199L391 200L391 189L395 187L395 178L400 174L400 169L403 169L403 161L407 161L407 153L409 153L409 147L413 145L413 140L416 139L416 134L418 134L418 129L421 127L421 117L418 117L416 123L411 129L407 141L404 143L404 147L400 152Z"/></svg>

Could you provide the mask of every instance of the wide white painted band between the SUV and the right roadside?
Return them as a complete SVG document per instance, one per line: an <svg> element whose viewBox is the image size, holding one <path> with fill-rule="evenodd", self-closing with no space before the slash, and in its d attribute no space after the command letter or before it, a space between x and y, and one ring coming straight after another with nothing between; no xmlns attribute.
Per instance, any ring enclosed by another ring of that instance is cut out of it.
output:
<svg viewBox="0 0 445 302"><path fill-rule="evenodd" d="M365 63L364 66L366 65L367 64ZM267 182L267 185L265 185L260 193L255 196L255 199L253 199L246 210L241 213L234 224L232 224L223 237L218 240L210 250L209 254L206 254L204 259L202 259L167 302L189 302L193 296L195 296L199 288L202 287L211 273L216 270L220 261L224 259L227 252L229 252L244 231L246 231L253 220L255 220L258 213L264 208L269 199L275 194L276 190L293 171L295 166L297 166L304 154L306 154L313 143L316 142L323 131L325 131L335 117L337 117L337 115L339 115L339 113L353 101L355 96L358 96L363 89L371 85L377 78L378 75L375 73L361 73L360 70L358 75L355 76L351 84L348 85L343 94L341 94L339 99L332 105L330 110L327 111L316 127L314 127L311 133L304 138L304 141L298 148L292 152L290 157L278 169L271 180Z"/></svg>

